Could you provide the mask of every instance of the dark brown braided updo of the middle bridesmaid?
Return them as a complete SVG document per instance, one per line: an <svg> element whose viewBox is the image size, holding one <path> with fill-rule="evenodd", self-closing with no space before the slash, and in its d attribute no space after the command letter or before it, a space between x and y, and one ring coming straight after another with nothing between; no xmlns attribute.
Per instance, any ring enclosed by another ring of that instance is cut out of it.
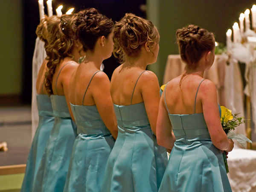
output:
<svg viewBox="0 0 256 192"><path fill-rule="evenodd" d="M84 9L77 13L77 18L74 23L74 31L76 39L78 39L83 51L90 50L93 52L96 41L101 36L108 38L112 32L114 23L111 19L102 15L97 9Z"/></svg>

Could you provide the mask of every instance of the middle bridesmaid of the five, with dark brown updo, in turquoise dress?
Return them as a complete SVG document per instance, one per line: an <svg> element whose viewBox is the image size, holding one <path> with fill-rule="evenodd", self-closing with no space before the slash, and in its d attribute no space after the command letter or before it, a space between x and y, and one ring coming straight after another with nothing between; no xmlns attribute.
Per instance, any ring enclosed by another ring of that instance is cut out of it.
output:
<svg viewBox="0 0 256 192"><path fill-rule="evenodd" d="M113 26L111 19L93 8L80 11L74 23L86 57L70 80L70 105L79 135L73 146L65 192L100 191L117 137L110 81L100 71L102 61L112 55Z"/></svg>

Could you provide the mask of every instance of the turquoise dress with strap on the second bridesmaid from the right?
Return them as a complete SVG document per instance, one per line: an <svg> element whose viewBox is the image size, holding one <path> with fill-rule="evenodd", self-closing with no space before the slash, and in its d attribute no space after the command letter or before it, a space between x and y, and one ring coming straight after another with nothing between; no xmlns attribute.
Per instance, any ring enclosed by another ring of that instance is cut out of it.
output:
<svg viewBox="0 0 256 192"><path fill-rule="evenodd" d="M144 102L114 105L114 110L118 136L107 162L101 192L157 192L166 169L167 153L157 145Z"/></svg>

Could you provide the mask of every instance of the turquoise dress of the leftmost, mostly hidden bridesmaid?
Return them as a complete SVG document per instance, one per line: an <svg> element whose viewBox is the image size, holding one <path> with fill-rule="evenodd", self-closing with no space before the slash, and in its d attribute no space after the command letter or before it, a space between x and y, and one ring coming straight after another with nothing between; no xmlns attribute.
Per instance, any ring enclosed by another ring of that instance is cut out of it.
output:
<svg viewBox="0 0 256 192"><path fill-rule="evenodd" d="M35 136L29 151L29 157L26 163L26 172L20 192L32 191L33 181L38 172L38 167L44 154L44 148L54 124L50 97L47 95L37 95L36 99L39 114L38 128L35 131Z"/></svg>

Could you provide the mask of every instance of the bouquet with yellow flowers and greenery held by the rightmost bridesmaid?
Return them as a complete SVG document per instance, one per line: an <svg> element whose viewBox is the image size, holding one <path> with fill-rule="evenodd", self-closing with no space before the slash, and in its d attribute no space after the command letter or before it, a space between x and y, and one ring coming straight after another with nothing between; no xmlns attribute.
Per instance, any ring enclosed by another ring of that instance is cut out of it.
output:
<svg viewBox="0 0 256 192"><path fill-rule="evenodd" d="M221 106L221 125L223 130L227 134L227 138L237 140L245 148L246 142L252 143L252 141L245 137L243 134L235 134L231 132L231 130L235 130L237 126L245 123L246 121L243 116L238 117L239 114L240 113L232 114L232 111L230 109ZM224 158L226 171L228 173L229 170L227 166L227 155L225 152L222 155Z"/></svg>

